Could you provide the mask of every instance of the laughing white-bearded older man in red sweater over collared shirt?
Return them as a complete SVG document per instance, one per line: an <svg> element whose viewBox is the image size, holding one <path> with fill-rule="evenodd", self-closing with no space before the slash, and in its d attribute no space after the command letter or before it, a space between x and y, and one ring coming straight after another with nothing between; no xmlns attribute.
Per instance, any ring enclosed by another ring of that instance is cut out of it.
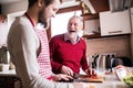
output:
<svg viewBox="0 0 133 88"><path fill-rule="evenodd" d="M79 74L82 67L88 75L95 74L86 63L86 45L79 35L82 30L82 19L74 15L69 20L68 33L51 38L49 44L53 73L73 76Z"/></svg>

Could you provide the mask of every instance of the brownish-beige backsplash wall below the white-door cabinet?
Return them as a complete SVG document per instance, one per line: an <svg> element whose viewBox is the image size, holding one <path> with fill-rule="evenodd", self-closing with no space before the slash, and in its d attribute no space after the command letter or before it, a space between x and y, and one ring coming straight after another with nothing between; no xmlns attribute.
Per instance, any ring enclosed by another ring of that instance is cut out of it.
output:
<svg viewBox="0 0 133 88"><path fill-rule="evenodd" d="M88 55L115 53L116 56L131 58L130 35L85 40Z"/></svg>

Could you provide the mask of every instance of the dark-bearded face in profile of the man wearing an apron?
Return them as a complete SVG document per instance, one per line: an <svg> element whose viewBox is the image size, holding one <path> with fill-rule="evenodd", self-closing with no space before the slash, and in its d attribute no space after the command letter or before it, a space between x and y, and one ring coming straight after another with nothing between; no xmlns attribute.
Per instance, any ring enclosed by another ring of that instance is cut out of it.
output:
<svg viewBox="0 0 133 88"><path fill-rule="evenodd" d="M49 28L49 21L51 18L54 18L57 11L59 10L60 0L54 0L53 3L48 7L43 6L39 12L39 22L44 24L45 28Z"/></svg>

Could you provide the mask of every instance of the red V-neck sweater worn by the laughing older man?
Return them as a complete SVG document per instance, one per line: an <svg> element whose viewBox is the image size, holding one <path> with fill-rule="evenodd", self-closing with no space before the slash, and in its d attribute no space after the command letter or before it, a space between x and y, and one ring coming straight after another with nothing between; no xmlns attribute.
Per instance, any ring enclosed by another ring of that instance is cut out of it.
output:
<svg viewBox="0 0 133 88"><path fill-rule="evenodd" d="M57 35L50 41L50 57L52 70L55 74L61 73L62 65L70 67L74 73L80 73L89 68L86 63L86 45L80 38L76 44L64 41L64 34Z"/></svg>

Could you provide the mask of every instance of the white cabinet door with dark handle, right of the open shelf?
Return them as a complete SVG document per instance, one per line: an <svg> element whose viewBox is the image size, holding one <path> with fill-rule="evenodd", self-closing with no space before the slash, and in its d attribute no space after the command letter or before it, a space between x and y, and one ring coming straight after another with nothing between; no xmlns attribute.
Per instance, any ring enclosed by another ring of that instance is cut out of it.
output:
<svg viewBox="0 0 133 88"><path fill-rule="evenodd" d="M130 11L100 12L101 35L131 33Z"/></svg>

